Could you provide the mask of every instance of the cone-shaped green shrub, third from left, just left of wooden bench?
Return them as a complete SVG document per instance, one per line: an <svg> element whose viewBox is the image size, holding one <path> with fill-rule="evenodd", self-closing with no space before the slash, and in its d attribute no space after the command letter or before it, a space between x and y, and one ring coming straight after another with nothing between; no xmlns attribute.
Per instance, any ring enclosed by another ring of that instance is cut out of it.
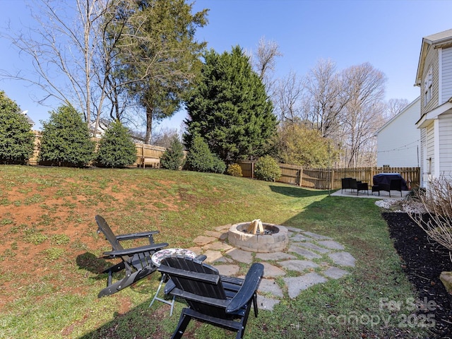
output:
<svg viewBox="0 0 452 339"><path fill-rule="evenodd" d="M105 167L126 167L136 161L136 145L121 121L113 121L100 139L97 162Z"/></svg>

